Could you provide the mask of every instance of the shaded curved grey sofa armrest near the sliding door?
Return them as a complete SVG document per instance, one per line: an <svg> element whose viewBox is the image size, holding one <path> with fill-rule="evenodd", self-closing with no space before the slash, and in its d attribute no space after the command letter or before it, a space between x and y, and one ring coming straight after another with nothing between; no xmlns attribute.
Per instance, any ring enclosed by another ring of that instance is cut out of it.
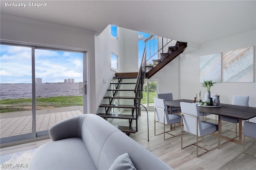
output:
<svg viewBox="0 0 256 170"><path fill-rule="evenodd" d="M81 118L83 120L84 117L84 115L79 115L52 125L52 127L49 129L49 135L52 141L58 141L72 137L80 137L80 134L78 134L81 129L79 122L81 122Z"/></svg>

